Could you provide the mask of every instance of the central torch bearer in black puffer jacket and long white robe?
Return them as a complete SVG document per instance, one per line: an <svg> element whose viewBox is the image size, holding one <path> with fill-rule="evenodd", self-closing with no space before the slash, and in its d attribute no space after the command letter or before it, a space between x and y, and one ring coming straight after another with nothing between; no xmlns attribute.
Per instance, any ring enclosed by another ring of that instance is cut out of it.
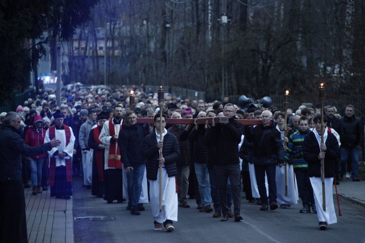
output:
<svg viewBox="0 0 365 243"><path fill-rule="evenodd" d="M147 179L149 181L149 196L154 218L154 230L173 231L173 221L178 221L178 194L176 191L177 175L176 161L180 156L178 139L165 129L166 116L156 114L154 117L155 131L148 134L143 141L142 155L146 157ZM162 128L162 133L161 133ZM163 149L162 157L159 156ZM159 167L162 170L159 170ZM160 171L162 173L160 174ZM161 177L160 177L161 176ZM160 179L161 178L161 179ZM162 181L162 211L160 212L160 180Z"/></svg>

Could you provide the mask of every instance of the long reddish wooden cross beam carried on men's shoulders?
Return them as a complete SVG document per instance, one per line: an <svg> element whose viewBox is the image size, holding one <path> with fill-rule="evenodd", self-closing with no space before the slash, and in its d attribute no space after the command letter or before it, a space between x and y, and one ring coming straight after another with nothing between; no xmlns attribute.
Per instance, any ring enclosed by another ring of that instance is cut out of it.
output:
<svg viewBox="0 0 365 243"><path fill-rule="evenodd" d="M184 124L184 125L188 125L194 124L194 120L195 119L185 119L185 118L181 118L181 119L171 119L168 118L166 120L166 124ZM205 124L205 122L208 121L208 124L212 124L212 118L198 118L197 119L197 123L198 124ZM228 118L227 117L215 117L214 121L216 123L227 123L228 122ZM236 120L239 121L242 125L258 125L261 123L261 120ZM145 123L149 123L149 124L153 124L153 118L137 118L137 123L141 123L141 124L145 124Z"/></svg>

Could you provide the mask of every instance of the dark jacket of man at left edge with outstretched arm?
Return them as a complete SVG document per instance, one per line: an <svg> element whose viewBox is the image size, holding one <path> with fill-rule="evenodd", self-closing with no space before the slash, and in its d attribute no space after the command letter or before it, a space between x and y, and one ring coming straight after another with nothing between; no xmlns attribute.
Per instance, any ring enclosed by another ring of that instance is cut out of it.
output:
<svg viewBox="0 0 365 243"><path fill-rule="evenodd" d="M51 150L51 143L29 147L13 126L1 125L0 129L0 181L21 180L21 156L36 156Z"/></svg>

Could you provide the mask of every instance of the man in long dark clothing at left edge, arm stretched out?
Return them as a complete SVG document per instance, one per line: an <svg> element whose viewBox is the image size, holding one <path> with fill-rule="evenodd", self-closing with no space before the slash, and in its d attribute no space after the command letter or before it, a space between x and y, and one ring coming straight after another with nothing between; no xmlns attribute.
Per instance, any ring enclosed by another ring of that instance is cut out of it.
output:
<svg viewBox="0 0 365 243"><path fill-rule="evenodd" d="M54 139L29 147L20 136L20 121L20 116L10 111L0 130L0 242L28 242L21 156L41 155L61 144Z"/></svg>

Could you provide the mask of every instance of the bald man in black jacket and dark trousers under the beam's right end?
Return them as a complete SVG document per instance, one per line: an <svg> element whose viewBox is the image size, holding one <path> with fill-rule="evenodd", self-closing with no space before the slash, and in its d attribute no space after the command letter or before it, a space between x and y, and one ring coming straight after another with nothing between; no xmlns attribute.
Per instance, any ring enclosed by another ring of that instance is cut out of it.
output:
<svg viewBox="0 0 365 243"><path fill-rule="evenodd" d="M270 210L278 208L276 202L276 165L284 165L284 147L280 132L275 128L272 121L273 113L269 110L262 112L261 124L251 129L245 127L245 136L249 142L253 142L252 162L255 165L255 175L257 187L261 199L260 210L269 209L268 199L270 199ZM265 185L265 173L269 184L269 198Z"/></svg>

